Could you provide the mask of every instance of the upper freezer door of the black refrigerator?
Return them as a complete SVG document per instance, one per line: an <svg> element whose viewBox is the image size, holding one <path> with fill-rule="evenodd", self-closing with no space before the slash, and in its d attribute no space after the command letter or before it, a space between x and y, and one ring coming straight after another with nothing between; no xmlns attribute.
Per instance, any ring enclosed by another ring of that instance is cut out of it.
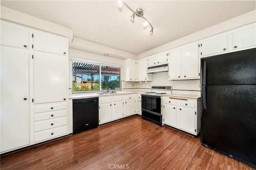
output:
<svg viewBox="0 0 256 170"><path fill-rule="evenodd" d="M201 84L256 84L256 48L202 59Z"/></svg>

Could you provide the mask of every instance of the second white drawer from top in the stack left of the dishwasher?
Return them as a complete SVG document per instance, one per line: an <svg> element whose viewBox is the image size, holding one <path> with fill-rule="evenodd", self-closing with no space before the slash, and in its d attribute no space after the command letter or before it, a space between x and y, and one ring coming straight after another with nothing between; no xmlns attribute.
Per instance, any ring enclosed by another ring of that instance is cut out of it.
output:
<svg viewBox="0 0 256 170"><path fill-rule="evenodd" d="M34 121L41 121L45 119L52 119L56 117L67 116L68 110L49 111L44 113L37 113L34 115Z"/></svg>

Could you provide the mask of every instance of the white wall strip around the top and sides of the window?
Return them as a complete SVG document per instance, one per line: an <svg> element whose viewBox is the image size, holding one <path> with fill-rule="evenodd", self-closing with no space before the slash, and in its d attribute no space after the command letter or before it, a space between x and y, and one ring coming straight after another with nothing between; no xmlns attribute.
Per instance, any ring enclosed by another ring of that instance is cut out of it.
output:
<svg viewBox="0 0 256 170"><path fill-rule="evenodd" d="M69 88L72 88L72 64L71 64L71 57L79 58L79 59L86 59L92 61L101 61L105 63L112 63L112 64L120 64L124 66L124 60L116 59L113 57L106 57L104 55L98 55L94 53L88 53L85 51L80 51L76 49L69 49ZM121 68L121 81L124 80L124 67Z"/></svg>

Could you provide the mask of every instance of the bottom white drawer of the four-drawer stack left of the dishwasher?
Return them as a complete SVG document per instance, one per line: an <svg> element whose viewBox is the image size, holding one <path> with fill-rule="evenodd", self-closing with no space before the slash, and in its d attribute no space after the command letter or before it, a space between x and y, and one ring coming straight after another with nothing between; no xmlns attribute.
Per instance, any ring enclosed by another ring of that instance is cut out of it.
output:
<svg viewBox="0 0 256 170"><path fill-rule="evenodd" d="M46 139L53 139L68 134L68 126L57 127L46 131L34 133L35 142L43 141Z"/></svg>

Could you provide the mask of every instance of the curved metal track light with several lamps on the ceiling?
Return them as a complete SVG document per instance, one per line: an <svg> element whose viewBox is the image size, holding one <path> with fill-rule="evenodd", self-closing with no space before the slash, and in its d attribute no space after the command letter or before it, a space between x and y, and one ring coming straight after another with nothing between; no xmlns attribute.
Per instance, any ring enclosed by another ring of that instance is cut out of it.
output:
<svg viewBox="0 0 256 170"><path fill-rule="evenodd" d="M132 12L132 16L131 16L131 19L132 20L135 20L135 15L140 17L140 18L143 18L144 19L144 23L143 23L143 26L146 27L148 24L150 25L151 29L149 31L150 34L153 34L153 28L151 23L143 16L144 14L144 11L141 9L141 8L137 8L136 11L132 10L132 8L130 8L130 6L128 6L124 0L118 0L117 2L117 5L119 8L122 8L123 5L125 5L131 12Z"/></svg>

